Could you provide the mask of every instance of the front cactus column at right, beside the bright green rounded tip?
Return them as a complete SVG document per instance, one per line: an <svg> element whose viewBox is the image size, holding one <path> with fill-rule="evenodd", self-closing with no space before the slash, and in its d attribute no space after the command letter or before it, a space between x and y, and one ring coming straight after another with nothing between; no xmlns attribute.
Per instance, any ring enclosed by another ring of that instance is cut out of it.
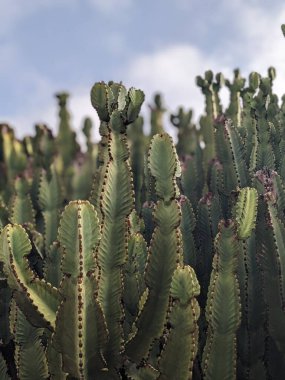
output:
<svg viewBox="0 0 285 380"><path fill-rule="evenodd" d="M236 331L240 325L237 256L240 244L233 222L221 222L215 239L213 271L208 291L207 341L203 373L207 379L236 378Z"/></svg>

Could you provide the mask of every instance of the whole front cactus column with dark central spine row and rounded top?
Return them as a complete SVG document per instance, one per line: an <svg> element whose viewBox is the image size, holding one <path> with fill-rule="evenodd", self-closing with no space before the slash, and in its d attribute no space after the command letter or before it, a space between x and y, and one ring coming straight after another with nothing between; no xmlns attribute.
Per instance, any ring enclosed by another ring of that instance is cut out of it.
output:
<svg viewBox="0 0 285 380"><path fill-rule="evenodd" d="M62 353L64 371L78 378L91 378L105 366L101 351L107 332L94 274L99 237L94 207L88 201L70 202L58 234L63 249L60 292L64 299L57 312L52 344Z"/></svg>

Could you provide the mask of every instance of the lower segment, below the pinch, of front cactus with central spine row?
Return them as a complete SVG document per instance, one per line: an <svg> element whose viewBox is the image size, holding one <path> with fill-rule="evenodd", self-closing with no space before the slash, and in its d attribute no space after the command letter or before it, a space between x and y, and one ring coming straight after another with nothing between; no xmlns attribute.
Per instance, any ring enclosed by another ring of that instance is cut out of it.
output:
<svg viewBox="0 0 285 380"><path fill-rule="evenodd" d="M92 274L65 278L61 285L65 300L58 310L52 344L62 353L63 371L75 378L100 378L105 367L106 323L95 298L96 288Z"/></svg>

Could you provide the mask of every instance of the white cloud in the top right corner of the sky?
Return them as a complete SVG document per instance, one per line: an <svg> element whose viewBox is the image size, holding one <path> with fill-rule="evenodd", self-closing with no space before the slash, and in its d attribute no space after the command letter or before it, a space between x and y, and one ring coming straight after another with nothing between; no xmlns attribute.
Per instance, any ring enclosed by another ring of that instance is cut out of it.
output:
<svg viewBox="0 0 285 380"><path fill-rule="evenodd" d="M257 1L245 0L227 2L238 20L239 56L243 56L245 74L251 71L267 75L273 66L277 70L275 91L285 92L285 39L281 24L285 22L285 4L275 7L262 7ZM233 60L233 59L232 59Z"/></svg>

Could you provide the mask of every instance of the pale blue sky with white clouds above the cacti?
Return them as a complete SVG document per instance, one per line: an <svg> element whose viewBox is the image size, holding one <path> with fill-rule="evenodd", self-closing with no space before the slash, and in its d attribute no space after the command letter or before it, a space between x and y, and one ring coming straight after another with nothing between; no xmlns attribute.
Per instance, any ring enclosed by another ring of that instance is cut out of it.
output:
<svg viewBox="0 0 285 380"><path fill-rule="evenodd" d="M273 65L285 92L282 0L0 0L0 14L0 121L19 136L35 122L56 130L61 90L74 127L96 120L89 91L100 80L139 87L146 103L161 91L170 110L196 116L195 76L207 69L231 77Z"/></svg>

